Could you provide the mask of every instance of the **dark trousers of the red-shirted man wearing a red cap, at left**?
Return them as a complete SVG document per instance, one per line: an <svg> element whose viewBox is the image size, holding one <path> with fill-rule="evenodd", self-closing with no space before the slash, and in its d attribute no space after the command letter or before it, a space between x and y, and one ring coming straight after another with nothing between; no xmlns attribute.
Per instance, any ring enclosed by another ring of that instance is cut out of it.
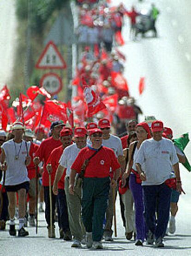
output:
<svg viewBox="0 0 191 256"><path fill-rule="evenodd" d="M58 200L58 223L59 227L62 228L64 232L67 230L70 230L69 227L69 221L68 221L68 210L67 210L67 202L66 202L66 194L64 189L58 189L58 195L57 195L57 200Z"/></svg>

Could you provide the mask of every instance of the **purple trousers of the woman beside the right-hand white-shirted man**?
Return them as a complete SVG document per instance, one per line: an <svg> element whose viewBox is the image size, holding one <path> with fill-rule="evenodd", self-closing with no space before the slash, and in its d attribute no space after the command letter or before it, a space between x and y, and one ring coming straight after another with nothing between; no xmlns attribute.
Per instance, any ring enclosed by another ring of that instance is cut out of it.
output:
<svg viewBox="0 0 191 256"><path fill-rule="evenodd" d="M136 182L136 176L130 175L130 189L135 204L135 227L137 231L137 239L144 241L145 238L145 221L144 221L144 203L143 203L143 187Z"/></svg>

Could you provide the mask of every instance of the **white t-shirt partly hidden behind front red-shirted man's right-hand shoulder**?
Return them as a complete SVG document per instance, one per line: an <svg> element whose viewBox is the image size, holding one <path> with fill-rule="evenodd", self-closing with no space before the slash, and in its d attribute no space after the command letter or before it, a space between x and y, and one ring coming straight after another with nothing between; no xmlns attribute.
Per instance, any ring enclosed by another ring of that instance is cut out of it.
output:
<svg viewBox="0 0 191 256"><path fill-rule="evenodd" d="M116 157L123 156L123 148L119 137L110 134L110 137L108 139L102 140L102 145L104 147L112 149Z"/></svg>

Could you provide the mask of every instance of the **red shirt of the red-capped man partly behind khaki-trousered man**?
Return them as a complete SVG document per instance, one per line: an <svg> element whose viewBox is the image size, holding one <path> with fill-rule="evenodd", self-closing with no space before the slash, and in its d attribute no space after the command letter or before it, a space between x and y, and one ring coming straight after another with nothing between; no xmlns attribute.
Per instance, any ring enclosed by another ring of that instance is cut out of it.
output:
<svg viewBox="0 0 191 256"><path fill-rule="evenodd" d="M60 146L56 149L54 149L50 156L48 157L48 160L47 160L47 164L48 163L51 163L52 165L52 173L51 173L51 185L53 185L54 183L54 178L55 178L55 175L56 175L56 170L59 166L59 160L60 160L60 156L62 155L63 153L63 146ZM66 170L64 171L59 183L58 183L58 188L61 188L61 189L64 189L64 179L65 179L65 176L66 176Z"/></svg>

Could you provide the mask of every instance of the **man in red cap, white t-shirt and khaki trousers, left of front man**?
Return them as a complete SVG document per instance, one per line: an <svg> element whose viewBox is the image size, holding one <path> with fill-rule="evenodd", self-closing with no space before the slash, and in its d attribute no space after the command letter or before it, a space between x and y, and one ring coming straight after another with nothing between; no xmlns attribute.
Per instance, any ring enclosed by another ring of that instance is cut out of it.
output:
<svg viewBox="0 0 191 256"><path fill-rule="evenodd" d="M71 166L81 149L86 146L87 130L84 127L77 127L74 130L75 143L68 146L60 157L60 165L56 171L53 193L58 194L58 182L66 168L65 193L68 207L68 219L72 236L74 238L72 247L81 247L81 241L85 236L85 228L81 219L81 194L82 189L75 187L75 193L69 193L69 177Z"/></svg>

